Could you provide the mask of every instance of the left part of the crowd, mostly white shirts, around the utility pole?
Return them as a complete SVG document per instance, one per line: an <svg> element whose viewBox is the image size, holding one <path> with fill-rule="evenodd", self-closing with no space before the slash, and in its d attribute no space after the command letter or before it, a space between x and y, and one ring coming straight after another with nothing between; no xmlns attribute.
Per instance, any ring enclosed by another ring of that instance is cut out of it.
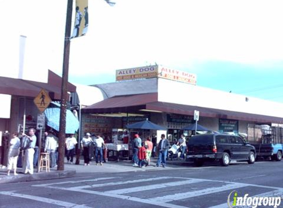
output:
<svg viewBox="0 0 283 208"><path fill-rule="evenodd" d="M8 133L7 133L8 134ZM24 174L33 174L34 168L37 166L38 151L49 153L50 168L57 166L58 161L58 137L57 132L50 129L44 132L42 145L38 150L36 130L31 128L28 134L12 133L8 141L7 152L7 175L10 175L13 170L14 175L17 175L17 167L22 168ZM9 137L9 136L7 136ZM75 134L66 135L65 140L65 156L68 164L74 164L74 156L76 155L76 148L83 150L84 165L89 166L90 162L90 146L94 146L96 165L102 165L106 161L103 157L103 151L107 150L104 139L100 135L90 135L86 133L78 144ZM4 167L4 166L3 166Z"/></svg>

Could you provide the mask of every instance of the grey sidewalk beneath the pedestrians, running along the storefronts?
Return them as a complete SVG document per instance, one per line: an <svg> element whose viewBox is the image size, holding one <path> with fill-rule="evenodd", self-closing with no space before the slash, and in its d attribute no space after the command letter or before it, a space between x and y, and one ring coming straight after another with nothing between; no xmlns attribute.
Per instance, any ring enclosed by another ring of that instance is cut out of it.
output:
<svg viewBox="0 0 283 208"><path fill-rule="evenodd" d="M46 173L45 170L43 172L37 173L37 168L35 168L34 174L24 174L22 173L22 168L17 168L18 175L14 175L13 171L10 172L10 175L6 175L7 169L0 169L0 183L15 183L15 182L26 182L26 181L35 181L35 180L47 180L47 179L58 179L58 178L66 178L72 176L89 176L93 173L122 173L122 172L139 172L139 171L162 171L168 169L178 169L178 168L186 168L190 167L191 163L180 160L166 161L166 168L155 167L157 162L157 158L153 158L151 160L150 166L145 168L133 167L131 161L109 161L108 163L104 163L102 166L95 165L94 161L90 162L89 166L84 166L83 159L80 159L80 165L71 165L67 164L65 161L64 171L57 171L56 168L50 168L50 172Z"/></svg>

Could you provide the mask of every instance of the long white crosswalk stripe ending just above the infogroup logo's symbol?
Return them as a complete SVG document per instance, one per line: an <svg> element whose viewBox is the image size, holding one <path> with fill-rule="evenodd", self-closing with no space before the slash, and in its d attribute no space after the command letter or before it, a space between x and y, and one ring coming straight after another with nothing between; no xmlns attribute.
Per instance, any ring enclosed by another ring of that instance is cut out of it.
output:
<svg viewBox="0 0 283 208"><path fill-rule="evenodd" d="M155 201L155 202L171 202L171 201L177 201L177 200L182 200L182 199L187 199L191 197L198 197L202 195L207 195L207 194L212 194L216 192L221 192L221 191L226 191L229 189L235 189L235 188L241 188L247 186L246 184L241 184L241 183L234 183L234 184L227 184L219 187L212 187L212 188L207 188L207 189L202 189L198 191L189 191L189 192L184 192L184 193L178 193L178 194L172 194L172 195L166 195L162 197L156 197L156 198L151 198L149 200Z"/></svg>

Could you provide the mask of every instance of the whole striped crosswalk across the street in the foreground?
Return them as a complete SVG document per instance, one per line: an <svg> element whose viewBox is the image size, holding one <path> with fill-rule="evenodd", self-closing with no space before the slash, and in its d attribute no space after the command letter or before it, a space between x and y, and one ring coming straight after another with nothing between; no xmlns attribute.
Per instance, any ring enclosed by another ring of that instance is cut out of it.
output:
<svg viewBox="0 0 283 208"><path fill-rule="evenodd" d="M81 185L84 184L84 185ZM248 183L239 183L221 180L209 180L190 177L152 177L139 176L137 179L127 180L123 177L99 177L94 179L64 181L57 183L45 183L33 185L47 189L56 189L62 191L87 193L121 200L128 200L147 205L155 205L165 208L192 208L200 207L200 197L220 195L221 203L211 204L206 208L227 208L228 194L233 190L241 191L258 190L254 196L283 196L283 188L255 185ZM178 187L178 188L176 188ZM62 207L89 208L89 205L76 205L68 202L60 202L58 200L46 200L36 196L28 196L15 192L0 192L0 195L8 195L13 197L30 198L32 200L55 204ZM224 197L223 197L224 196ZM192 203L186 204L186 200L197 199ZM179 203L182 202L182 203ZM190 207L191 206L191 207ZM147 206L144 206L147 207ZM150 207L150 206L148 206ZM248 208L247 206L245 206Z"/></svg>

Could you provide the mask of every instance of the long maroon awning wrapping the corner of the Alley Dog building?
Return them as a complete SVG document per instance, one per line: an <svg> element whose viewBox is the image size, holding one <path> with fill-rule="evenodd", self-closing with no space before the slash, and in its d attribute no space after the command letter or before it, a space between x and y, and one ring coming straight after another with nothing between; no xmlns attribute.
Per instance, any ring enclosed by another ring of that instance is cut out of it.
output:
<svg viewBox="0 0 283 208"><path fill-rule="evenodd" d="M229 110L199 107L193 105L165 103L158 101L158 93L139 95L117 96L106 99L88 107L82 108L83 113L117 113L117 112L139 112L139 110L162 111L182 115L194 115L195 110L200 111L200 116L252 121L258 123L283 123L283 118L259 115L252 113L236 112Z"/></svg>

